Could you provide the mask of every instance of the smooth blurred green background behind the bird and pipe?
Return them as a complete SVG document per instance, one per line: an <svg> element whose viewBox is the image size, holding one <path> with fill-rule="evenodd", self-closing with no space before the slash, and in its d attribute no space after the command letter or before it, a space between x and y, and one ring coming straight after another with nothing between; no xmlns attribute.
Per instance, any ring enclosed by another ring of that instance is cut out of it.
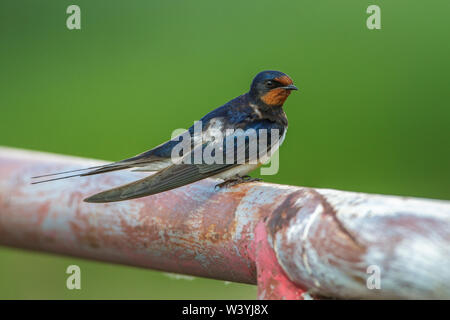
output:
<svg viewBox="0 0 450 320"><path fill-rule="evenodd" d="M66 28L81 7L82 29ZM381 30L366 8L381 7ZM450 1L2 0L0 145L119 160L248 90L300 88L270 182L450 199ZM65 288L69 264L82 290ZM0 248L0 298L256 298L256 287Z"/></svg>

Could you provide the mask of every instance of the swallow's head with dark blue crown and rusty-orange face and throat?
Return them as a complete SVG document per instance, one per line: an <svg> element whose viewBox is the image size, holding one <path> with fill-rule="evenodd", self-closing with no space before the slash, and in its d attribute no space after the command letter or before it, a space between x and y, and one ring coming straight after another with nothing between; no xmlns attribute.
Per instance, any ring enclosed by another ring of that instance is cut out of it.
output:
<svg viewBox="0 0 450 320"><path fill-rule="evenodd" d="M256 75L250 87L250 96L256 101L275 107L282 106L292 90L298 90L292 79L280 71L262 71Z"/></svg>

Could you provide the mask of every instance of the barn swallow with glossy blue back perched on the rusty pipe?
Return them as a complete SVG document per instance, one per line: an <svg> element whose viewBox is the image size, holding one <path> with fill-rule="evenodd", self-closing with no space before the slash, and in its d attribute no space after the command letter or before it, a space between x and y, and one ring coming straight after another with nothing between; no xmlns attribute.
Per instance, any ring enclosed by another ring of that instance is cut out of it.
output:
<svg viewBox="0 0 450 320"><path fill-rule="evenodd" d="M298 89L294 86L292 79L285 73L271 70L258 73L253 79L250 90L247 93L227 102L200 119L200 123L202 124L202 140L199 145L193 143L193 149L189 153L181 153L182 158L191 158L194 151L198 148L205 150L205 148L214 143L220 143L220 146L223 149L226 149L227 147L228 150L230 150L230 148L233 148L233 150L236 149L234 137L231 144L226 143L226 132L229 132L229 129L242 129L244 132L247 132L249 129L254 129L257 138L260 138L259 132L261 132L261 129L266 129L266 132L269 132L267 137L268 144L271 140L279 140L279 143L274 147L272 147L272 145L267 146L266 153L268 154L270 151L271 154L273 154L276 148L281 145L286 135L288 120L283 110L283 104L292 90ZM195 126L193 125L186 131L190 137L195 135L194 127ZM273 129L275 129L275 131L272 131ZM217 142L217 139L212 138L213 135L211 132L213 130L216 130L216 132L219 130L224 134L223 136L225 138L222 141ZM270 134L271 132L275 132L276 136ZM231 162L226 161L224 163L207 164L204 161L201 163L186 163L186 161L174 162L172 159L172 152L179 144L179 140L180 139L177 138L169 140L132 158L107 165L33 177L43 178L77 172L77 174L37 181L33 182L33 184L76 176L90 176L130 168L134 169L134 171L156 171L156 173L149 177L100 192L84 199L86 202L104 203L149 196L208 177L224 180L224 182L216 186L218 188L256 180L250 178L247 174L261 166L261 159L264 155L259 156L256 163L251 163L249 161L250 151L248 144L245 145L244 161L238 161L237 157L233 156ZM80 173L82 171L86 172Z"/></svg>

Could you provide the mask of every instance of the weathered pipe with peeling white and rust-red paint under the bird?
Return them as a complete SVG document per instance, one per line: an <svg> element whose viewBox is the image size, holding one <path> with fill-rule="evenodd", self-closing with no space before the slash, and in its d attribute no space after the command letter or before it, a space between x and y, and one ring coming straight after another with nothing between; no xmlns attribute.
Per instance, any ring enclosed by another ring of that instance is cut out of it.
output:
<svg viewBox="0 0 450 320"><path fill-rule="evenodd" d="M92 204L147 174L30 185L102 161L0 148L0 244L258 285L261 299L450 298L450 202L203 180ZM368 289L370 266L380 289Z"/></svg>

